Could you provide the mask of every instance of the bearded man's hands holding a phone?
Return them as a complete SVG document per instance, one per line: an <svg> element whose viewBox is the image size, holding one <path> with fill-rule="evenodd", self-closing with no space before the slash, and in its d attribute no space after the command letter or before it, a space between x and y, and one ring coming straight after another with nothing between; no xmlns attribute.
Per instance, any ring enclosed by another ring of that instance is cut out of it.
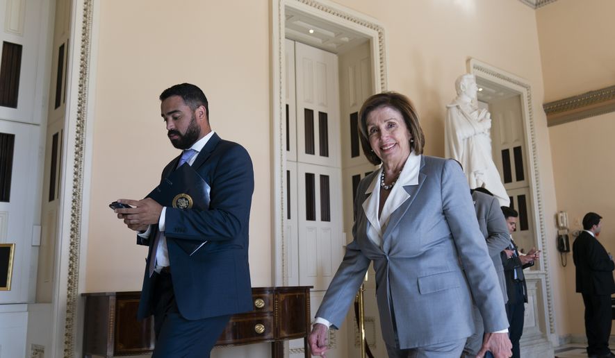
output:
<svg viewBox="0 0 615 358"><path fill-rule="evenodd" d="M124 219L126 226L135 231L145 231L149 225L158 224L163 211L163 206L151 198L120 199L109 206L117 214L117 219Z"/></svg>

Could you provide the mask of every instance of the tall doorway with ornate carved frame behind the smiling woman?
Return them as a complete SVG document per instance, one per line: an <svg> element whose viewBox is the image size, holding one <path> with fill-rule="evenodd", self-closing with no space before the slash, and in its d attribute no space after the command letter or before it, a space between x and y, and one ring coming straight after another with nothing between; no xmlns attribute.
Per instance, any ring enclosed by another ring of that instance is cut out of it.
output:
<svg viewBox="0 0 615 358"><path fill-rule="evenodd" d="M313 316L345 244L352 241L356 185L374 170L359 152L356 125L363 101L386 89L384 31L342 7L280 0L273 10L273 280L276 285L313 286ZM305 53L336 63L325 65ZM325 85L325 78L338 85ZM323 100L327 108L321 106ZM343 330L331 331L328 356L359 352L349 317ZM377 327L374 317L367 321ZM291 357L303 354L301 346L290 342Z"/></svg>

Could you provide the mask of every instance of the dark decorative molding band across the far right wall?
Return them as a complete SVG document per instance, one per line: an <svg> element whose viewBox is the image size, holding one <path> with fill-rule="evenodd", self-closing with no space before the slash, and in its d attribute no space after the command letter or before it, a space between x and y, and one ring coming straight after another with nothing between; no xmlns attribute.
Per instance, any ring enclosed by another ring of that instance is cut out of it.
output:
<svg viewBox="0 0 615 358"><path fill-rule="evenodd" d="M615 112L615 85L543 104L547 126Z"/></svg>

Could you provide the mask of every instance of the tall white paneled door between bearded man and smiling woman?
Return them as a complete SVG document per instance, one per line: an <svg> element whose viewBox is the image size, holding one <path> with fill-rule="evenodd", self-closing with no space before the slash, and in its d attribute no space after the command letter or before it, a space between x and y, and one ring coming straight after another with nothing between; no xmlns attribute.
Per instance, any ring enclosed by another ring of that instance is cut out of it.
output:
<svg viewBox="0 0 615 358"><path fill-rule="evenodd" d="M313 286L313 315L343 258L345 244L338 58L299 42L285 44L284 269L288 284ZM345 330L331 334L327 357L345 357L345 347L336 343ZM290 342L291 357L302 356L300 345Z"/></svg>

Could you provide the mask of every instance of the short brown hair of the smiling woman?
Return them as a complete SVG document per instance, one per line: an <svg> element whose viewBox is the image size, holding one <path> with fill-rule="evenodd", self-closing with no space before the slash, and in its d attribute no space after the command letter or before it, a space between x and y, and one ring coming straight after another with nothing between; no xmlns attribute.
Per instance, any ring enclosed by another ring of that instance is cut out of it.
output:
<svg viewBox="0 0 615 358"><path fill-rule="evenodd" d="M363 148L363 154L368 158L370 163L377 165L382 162L380 158L372 151L370 145L370 136L368 133L368 115L373 111L381 107L394 108L400 111L404 122L412 135L410 141L410 149L415 154L423 154L423 148L425 147L425 135L423 135L423 129L420 128L418 121L418 113L416 108L412 105L410 99L403 94L397 92L382 92L370 96L359 112L359 139L361 139L361 148Z"/></svg>

